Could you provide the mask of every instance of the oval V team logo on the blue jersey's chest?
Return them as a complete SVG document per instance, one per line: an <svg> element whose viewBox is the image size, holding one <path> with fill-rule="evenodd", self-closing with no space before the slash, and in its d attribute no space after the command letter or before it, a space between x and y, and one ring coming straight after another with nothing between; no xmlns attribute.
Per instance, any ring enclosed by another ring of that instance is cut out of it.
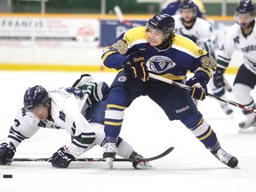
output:
<svg viewBox="0 0 256 192"><path fill-rule="evenodd" d="M176 64L168 57L163 55L157 55L151 57L146 63L149 71L156 73L162 73L169 68L173 68Z"/></svg>

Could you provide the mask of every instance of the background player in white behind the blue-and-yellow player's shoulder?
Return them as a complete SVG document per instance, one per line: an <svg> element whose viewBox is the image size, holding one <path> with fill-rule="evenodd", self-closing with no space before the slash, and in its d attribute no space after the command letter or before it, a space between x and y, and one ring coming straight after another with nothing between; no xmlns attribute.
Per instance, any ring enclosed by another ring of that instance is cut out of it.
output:
<svg viewBox="0 0 256 192"><path fill-rule="evenodd" d="M216 36L212 30L212 25L207 20L196 17L196 4L194 4L193 1L184 0L180 4L180 14L172 17L175 20L176 33L188 37L199 47L212 54L212 57L215 58L214 47ZM220 90L212 84L212 79L209 82L209 86L214 94L220 96ZM221 94L221 96L227 99L226 94ZM231 115L233 113L233 109L230 108L227 103L222 101L219 101L219 103L220 108L222 108L225 114Z"/></svg>

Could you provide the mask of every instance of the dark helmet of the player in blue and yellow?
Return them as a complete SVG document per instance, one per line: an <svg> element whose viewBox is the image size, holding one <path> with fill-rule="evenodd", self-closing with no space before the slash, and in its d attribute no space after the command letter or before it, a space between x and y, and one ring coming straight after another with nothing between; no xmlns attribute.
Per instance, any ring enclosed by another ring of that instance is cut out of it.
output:
<svg viewBox="0 0 256 192"><path fill-rule="evenodd" d="M164 33L165 38L168 38L175 29L175 20L171 15L165 13L157 13L148 20L146 24L148 28L154 28Z"/></svg>

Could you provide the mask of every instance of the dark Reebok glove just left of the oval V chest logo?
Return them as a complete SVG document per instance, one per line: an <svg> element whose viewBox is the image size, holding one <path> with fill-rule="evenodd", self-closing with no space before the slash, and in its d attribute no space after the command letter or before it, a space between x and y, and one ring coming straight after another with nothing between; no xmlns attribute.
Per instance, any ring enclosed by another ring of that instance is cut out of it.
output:
<svg viewBox="0 0 256 192"><path fill-rule="evenodd" d="M134 78L141 79L143 82L148 81L148 68L145 58L140 53L132 52L128 60L124 63L124 70L130 71Z"/></svg>

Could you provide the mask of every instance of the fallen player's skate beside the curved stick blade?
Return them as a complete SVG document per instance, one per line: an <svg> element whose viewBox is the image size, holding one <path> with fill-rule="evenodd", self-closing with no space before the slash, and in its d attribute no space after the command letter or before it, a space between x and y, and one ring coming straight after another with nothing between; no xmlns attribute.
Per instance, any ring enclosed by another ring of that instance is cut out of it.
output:
<svg viewBox="0 0 256 192"><path fill-rule="evenodd" d="M129 159L132 162L132 166L134 169L148 170L152 167L152 165L149 164L148 161L143 161L145 159L143 156L140 156L135 151L132 152Z"/></svg>

